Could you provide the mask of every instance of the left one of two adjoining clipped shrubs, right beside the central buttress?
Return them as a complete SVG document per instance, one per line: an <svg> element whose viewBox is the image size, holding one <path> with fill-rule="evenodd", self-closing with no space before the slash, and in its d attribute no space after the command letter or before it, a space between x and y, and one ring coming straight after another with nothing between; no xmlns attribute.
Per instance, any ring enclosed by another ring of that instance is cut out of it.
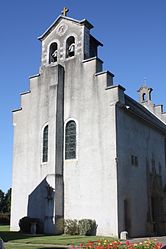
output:
<svg viewBox="0 0 166 249"><path fill-rule="evenodd" d="M70 235L79 234L78 221L77 220L65 220L64 221L64 233Z"/></svg>

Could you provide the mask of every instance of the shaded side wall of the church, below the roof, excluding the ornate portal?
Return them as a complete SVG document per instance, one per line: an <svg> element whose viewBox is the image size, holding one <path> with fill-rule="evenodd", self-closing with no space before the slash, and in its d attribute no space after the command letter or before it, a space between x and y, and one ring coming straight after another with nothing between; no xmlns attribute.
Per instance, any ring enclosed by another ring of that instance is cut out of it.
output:
<svg viewBox="0 0 166 249"><path fill-rule="evenodd" d="M148 227L153 213L148 175L155 170L164 187L165 136L130 109L118 107L117 141L119 232L127 230L132 237L153 234Z"/></svg>

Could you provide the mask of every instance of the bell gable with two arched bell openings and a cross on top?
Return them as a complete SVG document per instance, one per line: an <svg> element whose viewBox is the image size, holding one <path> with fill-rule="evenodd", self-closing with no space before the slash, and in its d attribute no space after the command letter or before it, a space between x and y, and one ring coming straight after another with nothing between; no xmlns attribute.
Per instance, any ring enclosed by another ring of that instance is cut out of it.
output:
<svg viewBox="0 0 166 249"><path fill-rule="evenodd" d="M42 43L41 69L78 58L80 61L97 57L98 46L103 46L91 34L93 25L67 17L69 10L62 14L38 39Z"/></svg>

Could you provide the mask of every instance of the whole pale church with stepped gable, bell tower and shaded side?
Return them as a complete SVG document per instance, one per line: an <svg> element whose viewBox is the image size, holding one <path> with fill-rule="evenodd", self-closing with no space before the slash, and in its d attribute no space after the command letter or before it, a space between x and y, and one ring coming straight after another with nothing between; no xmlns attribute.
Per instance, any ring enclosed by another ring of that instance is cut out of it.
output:
<svg viewBox="0 0 166 249"><path fill-rule="evenodd" d="M44 32L39 74L13 111L11 230L29 216L93 219L97 235L166 234L166 113L137 102L98 58L87 20L66 10Z"/></svg>

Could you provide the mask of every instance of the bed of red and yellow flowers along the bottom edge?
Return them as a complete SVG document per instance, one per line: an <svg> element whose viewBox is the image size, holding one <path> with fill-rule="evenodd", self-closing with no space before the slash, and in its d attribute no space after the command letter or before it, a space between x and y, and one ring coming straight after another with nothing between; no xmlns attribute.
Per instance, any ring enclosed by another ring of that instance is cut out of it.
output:
<svg viewBox="0 0 166 249"><path fill-rule="evenodd" d="M86 244L72 246L72 249L160 249L162 244L156 240L146 240L143 242L131 243L129 241L108 241L98 240L97 242L89 241Z"/></svg>

